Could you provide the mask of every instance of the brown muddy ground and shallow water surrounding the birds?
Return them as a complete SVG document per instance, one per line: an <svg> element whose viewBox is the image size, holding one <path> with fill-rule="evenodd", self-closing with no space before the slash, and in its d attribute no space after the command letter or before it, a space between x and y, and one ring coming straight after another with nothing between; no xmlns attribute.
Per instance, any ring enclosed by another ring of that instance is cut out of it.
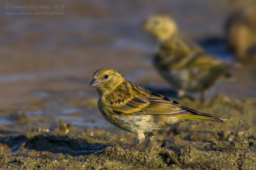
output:
<svg viewBox="0 0 256 170"><path fill-rule="evenodd" d="M61 1L65 15L0 14L0 169L256 169L255 64L234 67L203 103L198 94L176 99L225 124L166 127L145 152L145 143L124 150L135 136L100 115L89 87L100 67L177 97L152 66L154 41L140 29L152 13L173 15L184 36L236 66L223 25L244 1L156 2Z"/></svg>

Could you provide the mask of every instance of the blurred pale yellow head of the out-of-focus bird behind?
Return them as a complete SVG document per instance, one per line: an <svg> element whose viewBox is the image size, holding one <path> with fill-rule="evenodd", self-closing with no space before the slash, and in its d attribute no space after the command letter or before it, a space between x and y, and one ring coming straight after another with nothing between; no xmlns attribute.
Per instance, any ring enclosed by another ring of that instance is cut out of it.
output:
<svg viewBox="0 0 256 170"><path fill-rule="evenodd" d="M142 27L160 42L177 33L175 21L166 15L154 15L149 17Z"/></svg>

